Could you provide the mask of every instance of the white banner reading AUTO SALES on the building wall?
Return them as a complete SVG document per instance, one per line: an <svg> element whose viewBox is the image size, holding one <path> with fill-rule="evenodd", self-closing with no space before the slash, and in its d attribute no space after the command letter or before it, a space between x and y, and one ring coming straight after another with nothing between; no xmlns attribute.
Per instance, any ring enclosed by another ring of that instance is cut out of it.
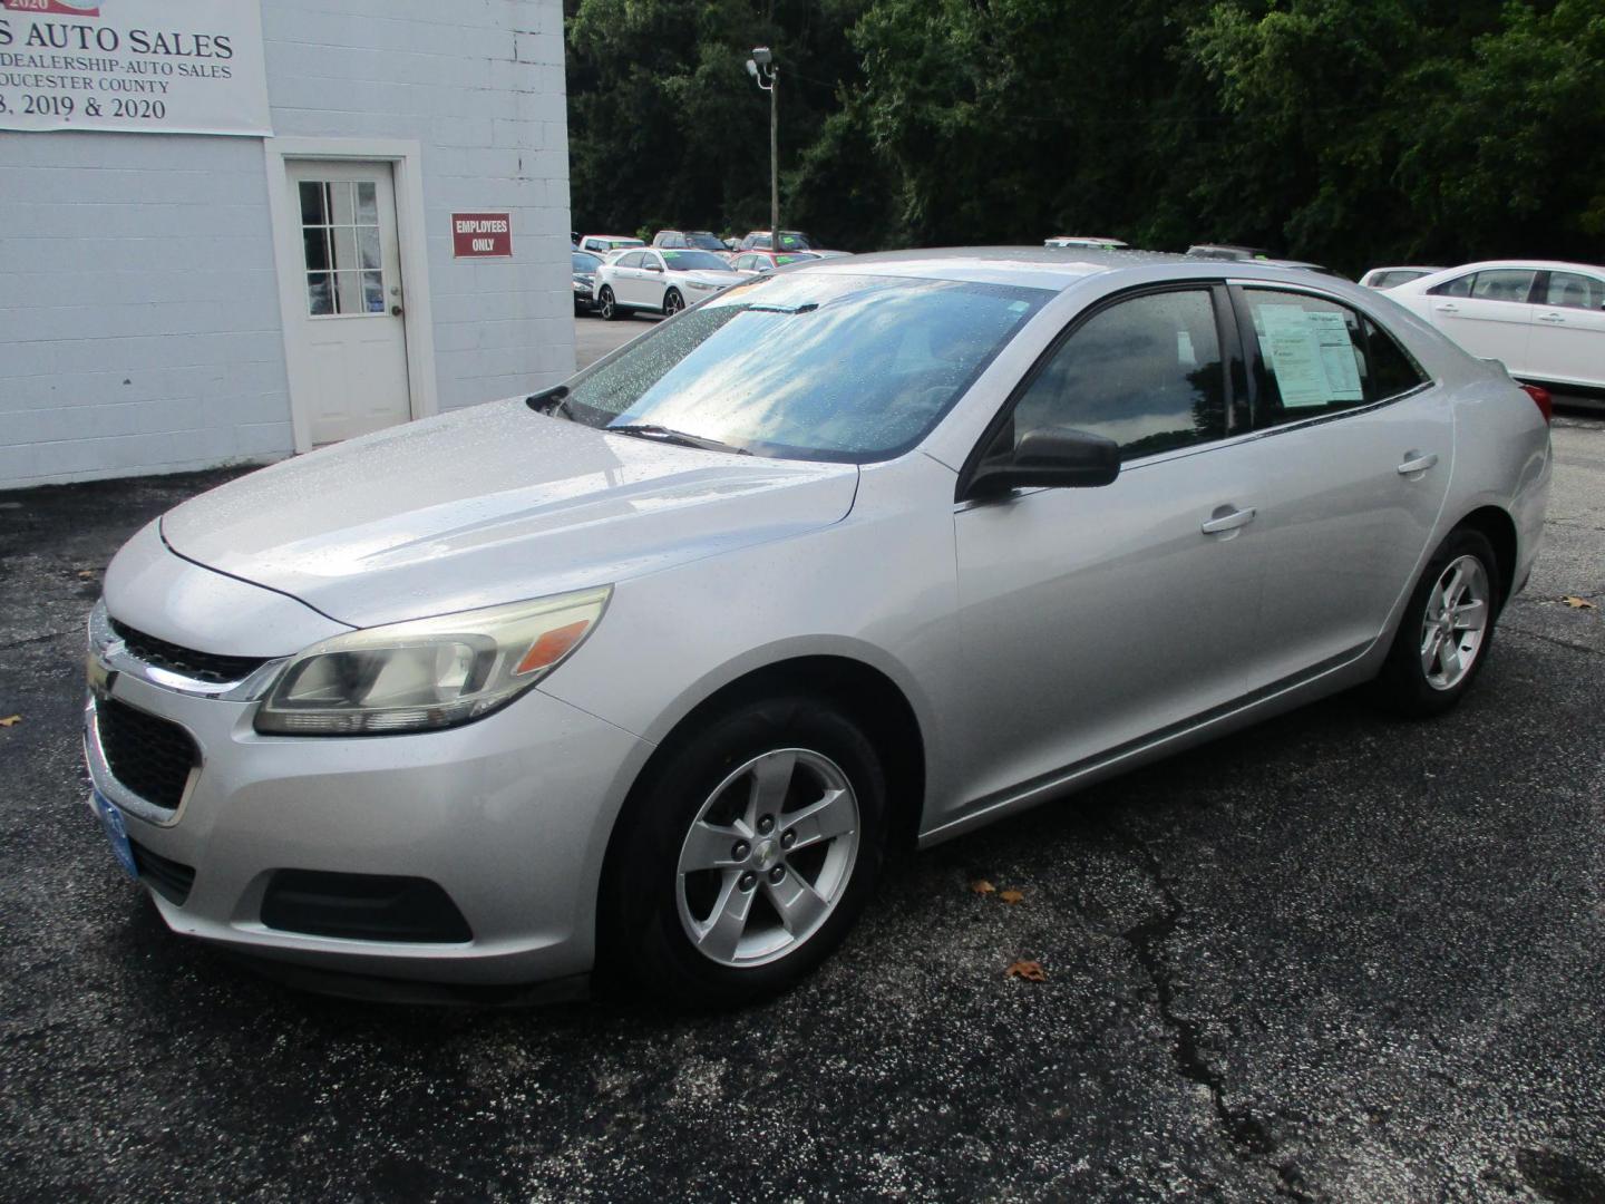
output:
<svg viewBox="0 0 1605 1204"><path fill-rule="evenodd" d="M0 0L0 130L271 135L257 0Z"/></svg>

